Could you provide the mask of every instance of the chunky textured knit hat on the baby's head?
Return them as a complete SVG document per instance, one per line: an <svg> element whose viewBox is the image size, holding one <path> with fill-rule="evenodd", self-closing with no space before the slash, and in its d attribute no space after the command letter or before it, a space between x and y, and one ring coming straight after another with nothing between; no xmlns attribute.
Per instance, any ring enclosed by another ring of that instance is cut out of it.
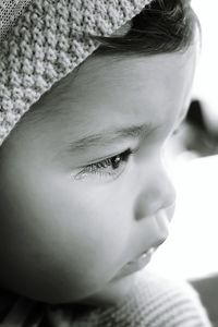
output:
<svg viewBox="0 0 218 327"><path fill-rule="evenodd" d="M51 86L153 0L1 0L0 145Z"/></svg>

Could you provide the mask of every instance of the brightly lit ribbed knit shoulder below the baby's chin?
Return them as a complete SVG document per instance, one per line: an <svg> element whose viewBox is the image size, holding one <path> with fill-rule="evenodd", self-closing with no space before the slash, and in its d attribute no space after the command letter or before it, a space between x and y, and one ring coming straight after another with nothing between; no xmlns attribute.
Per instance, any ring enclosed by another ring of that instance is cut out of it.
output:
<svg viewBox="0 0 218 327"><path fill-rule="evenodd" d="M138 274L133 303L148 326L211 326L198 293L184 280Z"/></svg>

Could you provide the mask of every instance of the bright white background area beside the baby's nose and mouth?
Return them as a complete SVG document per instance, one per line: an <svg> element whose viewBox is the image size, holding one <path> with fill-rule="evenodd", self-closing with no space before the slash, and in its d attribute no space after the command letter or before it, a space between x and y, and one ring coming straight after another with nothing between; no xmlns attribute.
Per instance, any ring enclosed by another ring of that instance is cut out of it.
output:
<svg viewBox="0 0 218 327"><path fill-rule="evenodd" d="M218 274L218 156L178 165L174 184L170 237L149 267L174 279Z"/></svg>

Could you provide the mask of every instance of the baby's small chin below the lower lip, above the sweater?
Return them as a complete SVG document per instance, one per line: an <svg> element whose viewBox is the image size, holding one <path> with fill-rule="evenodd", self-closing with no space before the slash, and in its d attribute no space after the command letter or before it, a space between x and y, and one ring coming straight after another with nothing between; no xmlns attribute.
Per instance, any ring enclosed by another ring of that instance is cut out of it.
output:
<svg viewBox="0 0 218 327"><path fill-rule="evenodd" d="M81 303L97 306L110 306L121 304L131 294L135 283L135 274L111 280L101 291L88 296Z"/></svg>

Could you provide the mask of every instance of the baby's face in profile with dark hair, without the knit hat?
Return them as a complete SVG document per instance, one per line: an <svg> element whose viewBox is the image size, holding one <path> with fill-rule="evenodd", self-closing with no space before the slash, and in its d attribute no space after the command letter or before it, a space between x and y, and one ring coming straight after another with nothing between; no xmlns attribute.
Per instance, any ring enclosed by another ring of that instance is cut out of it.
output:
<svg viewBox="0 0 218 327"><path fill-rule="evenodd" d="M156 0L23 117L1 147L1 287L50 303L116 301L168 235L161 154L195 65L186 1ZM146 258L147 261L147 258Z"/></svg>

